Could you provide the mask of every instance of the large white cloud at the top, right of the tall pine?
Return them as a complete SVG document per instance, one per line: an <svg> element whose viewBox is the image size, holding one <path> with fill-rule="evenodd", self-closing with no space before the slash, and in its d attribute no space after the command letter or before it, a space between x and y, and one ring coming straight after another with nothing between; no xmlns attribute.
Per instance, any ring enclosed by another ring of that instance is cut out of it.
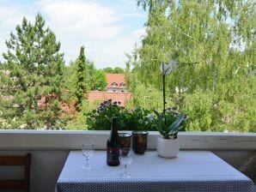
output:
<svg viewBox="0 0 256 192"><path fill-rule="evenodd" d="M52 29L69 36L102 40L113 38L121 30L115 25L119 21L116 11L100 3L55 0L40 1L39 6Z"/></svg>

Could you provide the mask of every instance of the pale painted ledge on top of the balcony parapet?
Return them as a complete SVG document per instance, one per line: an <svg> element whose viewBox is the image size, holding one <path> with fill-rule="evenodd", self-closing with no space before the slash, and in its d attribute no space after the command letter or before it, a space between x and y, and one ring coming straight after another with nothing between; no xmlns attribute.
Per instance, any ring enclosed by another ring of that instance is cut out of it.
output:
<svg viewBox="0 0 256 192"><path fill-rule="evenodd" d="M82 141L93 141L105 149L107 130L7 130L0 129L0 150L80 149ZM155 149L157 131L149 131L148 148ZM180 132L180 149L256 150L256 133Z"/></svg>

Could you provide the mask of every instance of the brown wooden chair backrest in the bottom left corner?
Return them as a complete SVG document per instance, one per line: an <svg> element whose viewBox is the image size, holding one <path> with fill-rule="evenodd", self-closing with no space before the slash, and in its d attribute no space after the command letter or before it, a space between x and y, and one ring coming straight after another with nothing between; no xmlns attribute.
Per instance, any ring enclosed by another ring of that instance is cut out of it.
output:
<svg viewBox="0 0 256 192"><path fill-rule="evenodd" d="M23 165L24 178L21 180L0 180L0 189L23 189L29 192L31 154L24 156L0 156L0 165Z"/></svg>

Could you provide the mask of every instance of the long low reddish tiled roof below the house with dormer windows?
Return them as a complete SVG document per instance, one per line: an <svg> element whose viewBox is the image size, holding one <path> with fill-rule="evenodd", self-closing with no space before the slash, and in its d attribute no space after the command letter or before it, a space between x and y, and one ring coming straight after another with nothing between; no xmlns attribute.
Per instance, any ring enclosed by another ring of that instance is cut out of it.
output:
<svg viewBox="0 0 256 192"><path fill-rule="evenodd" d="M113 93L113 92L103 92L103 91L91 91L88 92L88 100L108 100L121 102L121 106L125 106L125 101L131 99L131 93Z"/></svg>

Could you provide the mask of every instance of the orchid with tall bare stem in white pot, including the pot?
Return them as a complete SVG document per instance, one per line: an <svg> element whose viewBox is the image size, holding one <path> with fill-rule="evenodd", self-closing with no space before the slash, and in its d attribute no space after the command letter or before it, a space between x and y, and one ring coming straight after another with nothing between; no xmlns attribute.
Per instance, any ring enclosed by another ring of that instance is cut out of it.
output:
<svg viewBox="0 0 256 192"><path fill-rule="evenodd" d="M164 158L174 158L180 151L178 133L184 128L184 120L186 115L179 114L177 108L166 109L165 97L165 78L174 70L176 62L171 61L168 64L162 63L160 69L162 71L163 86L163 110L162 113L155 111L155 128L159 131L160 136L157 140L157 153Z"/></svg>

